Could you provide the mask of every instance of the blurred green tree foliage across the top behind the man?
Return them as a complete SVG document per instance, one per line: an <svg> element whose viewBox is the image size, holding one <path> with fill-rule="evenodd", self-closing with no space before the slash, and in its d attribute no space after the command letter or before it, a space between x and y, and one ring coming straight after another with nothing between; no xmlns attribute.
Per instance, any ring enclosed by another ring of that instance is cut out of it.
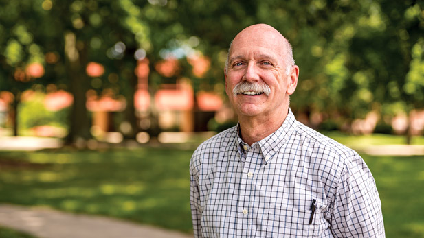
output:
<svg viewBox="0 0 424 238"><path fill-rule="evenodd" d="M0 9L0 86L15 95L31 88L35 81L16 82L14 71L41 62L46 73L35 83L70 91L78 105L83 105L78 93L89 89L131 101L134 53L140 50L150 60L150 93L181 77L192 79L195 91L220 91L232 38L248 25L267 23L290 40L300 66L293 110L337 112L348 120L370 110L392 115L393 108L424 108L423 9L421 1L390 0L7 1ZM65 35L75 37L67 47ZM56 53L57 62L45 62L47 52ZM212 61L203 78L187 63L191 53ZM172 78L154 70L168 56L178 58L182 68ZM89 79L90 61L102 63L104 75ZM81 121L85 114L71 112ZM75 128L82 127L70 126Z"/></svg>

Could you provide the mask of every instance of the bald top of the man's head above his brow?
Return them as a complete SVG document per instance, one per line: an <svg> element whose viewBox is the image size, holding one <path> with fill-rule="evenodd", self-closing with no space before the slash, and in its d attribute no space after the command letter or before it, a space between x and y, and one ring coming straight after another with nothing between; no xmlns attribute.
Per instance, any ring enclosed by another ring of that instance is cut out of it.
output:
<svg viewBox="0 0 424 238"><path fill-rule="evenodd" d="M289 41L274 27L266 24L256 24L243 29L230 43L227 61L225 62L226 70L228 69L228 62L230 61L230 55L234 45L236 45L236 47L243 47L243 45L239 44L241 42L243 42L244 45L269 45L273 47L273 49L276 49L283 58L287 74L289 73L291 66L295 64L293 51Z"/></svg>

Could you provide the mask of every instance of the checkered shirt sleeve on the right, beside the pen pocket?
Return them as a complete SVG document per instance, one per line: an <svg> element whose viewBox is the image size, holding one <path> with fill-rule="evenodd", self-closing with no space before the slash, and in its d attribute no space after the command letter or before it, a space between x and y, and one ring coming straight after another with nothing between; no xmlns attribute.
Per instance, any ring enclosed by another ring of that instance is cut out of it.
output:
<svg viewBox="0 0 424 238"><path fill-rule="evenodd" d="M344 167L333 203L335 237L385 237L379 193L364 160L353 156Z"/></svg>

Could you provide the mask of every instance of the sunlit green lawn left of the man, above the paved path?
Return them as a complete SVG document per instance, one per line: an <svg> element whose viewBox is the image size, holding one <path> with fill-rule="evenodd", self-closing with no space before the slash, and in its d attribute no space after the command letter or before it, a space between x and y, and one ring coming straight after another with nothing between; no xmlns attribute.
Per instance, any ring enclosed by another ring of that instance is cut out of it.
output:
<svg viewBox="0 0 424 238"><path fill-rule="evenodd" d="M0 152L0 203L51 206L190 232L192 151Z"/></svg>

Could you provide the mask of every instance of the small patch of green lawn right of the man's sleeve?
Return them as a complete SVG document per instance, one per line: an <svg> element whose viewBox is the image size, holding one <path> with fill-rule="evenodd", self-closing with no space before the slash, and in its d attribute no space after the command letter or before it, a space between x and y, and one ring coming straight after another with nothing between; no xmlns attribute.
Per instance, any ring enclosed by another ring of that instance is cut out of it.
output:
<svg viewBox="0 0 424 238"><path fill-rule="evenodd" d="M386 237L424 237L424 156L366 156L383 206Z"/></svg>

